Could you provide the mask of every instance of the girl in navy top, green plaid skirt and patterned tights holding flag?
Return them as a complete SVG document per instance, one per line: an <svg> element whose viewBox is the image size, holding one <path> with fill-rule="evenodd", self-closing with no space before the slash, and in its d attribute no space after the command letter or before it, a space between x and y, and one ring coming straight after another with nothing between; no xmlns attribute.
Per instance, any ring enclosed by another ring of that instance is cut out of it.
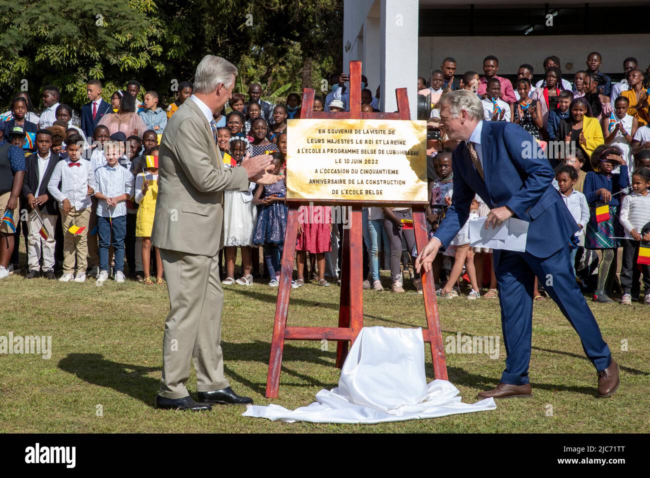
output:
<svg viewBox="0 0 650 478"><path fill-rule="evenodd" d="M612 174L617 165L620 165L619 174ZM585 247L600 249L603 254L598 265L598 285L593 300L614 302L606 295L605 287L618 248L616 237L620 237L622 233L621 224L617 219L620 204L618 194L629 185L627 163L619 148L601 144L591 154L591 167L593 171L588 172L584 178L584 196L590 210Z"/></svg>

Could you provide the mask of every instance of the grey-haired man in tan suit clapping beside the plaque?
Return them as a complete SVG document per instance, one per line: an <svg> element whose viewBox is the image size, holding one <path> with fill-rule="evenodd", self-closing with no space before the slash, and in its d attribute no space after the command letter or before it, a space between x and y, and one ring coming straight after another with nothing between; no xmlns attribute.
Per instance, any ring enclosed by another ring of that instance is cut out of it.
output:
<svg viewBox="0 0 650 478"><path fill-rule="evenodd" d="M162 343L158 408L210 410L216 403L252 403L224 377L221 312L224 293L218 251L223 246L224 191L270 184L270 155L244 158L226 168L216 147L213 113L230 99L237 68L220 57L203 57L194 95L168 122L158 157L158 198L151 243L159 248L169 290L170 312ZM194 359L198 402L185 382Z"/></svg>

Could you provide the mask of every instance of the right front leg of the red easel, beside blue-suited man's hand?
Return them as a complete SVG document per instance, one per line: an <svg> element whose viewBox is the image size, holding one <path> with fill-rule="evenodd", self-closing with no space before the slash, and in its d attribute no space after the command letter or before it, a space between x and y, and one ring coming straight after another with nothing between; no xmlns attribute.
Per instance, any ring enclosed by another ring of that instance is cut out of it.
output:
<svg viewBox="0 0 650 478"><path fill-rule="evenodd" d="M424 211L413 209L413 230L415 232L415 244L418 254L428 243L426 236L426 222L424 222ZM435 298L434 274L422 271L422 293L424 295L424 312L426 313L426 325L431 343L431 356L434 363L434 377L448 380L447 362L445 362L445 348L443 347L443 336L440 328L440 316L438 315L438 303Z"/></svg>

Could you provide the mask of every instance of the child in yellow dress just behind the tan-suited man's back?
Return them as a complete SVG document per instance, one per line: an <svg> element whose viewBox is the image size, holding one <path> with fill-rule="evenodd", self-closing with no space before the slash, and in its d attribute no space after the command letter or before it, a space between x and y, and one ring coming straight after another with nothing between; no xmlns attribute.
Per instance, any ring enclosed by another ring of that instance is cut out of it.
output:
<svg viewBox="0 0 650 478"><path fill-rule="evenodd" d="M151 265L151 230L153 216L156 211L158 196L158 157L146 156L146 172L138 173L135 178L135 202L138 207L138 218L135 224L135 235L142 238L142 267L144 268L144 284L164 284L162 280L162 259L156 249L156 282L153 282L149 267Z"/></svg>

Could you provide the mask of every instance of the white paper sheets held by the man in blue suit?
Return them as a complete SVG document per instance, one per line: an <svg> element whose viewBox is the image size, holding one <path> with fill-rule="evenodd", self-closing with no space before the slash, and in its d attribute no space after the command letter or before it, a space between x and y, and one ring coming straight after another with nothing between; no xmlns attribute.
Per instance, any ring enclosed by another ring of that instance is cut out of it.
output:
<svg viewBox="0 0 650 478"><path fill-rule="evenodd" d="M489 247L492 249L526 250L528 237L528 222L511 217L493 229L485 227L486 218L469 219L469 242L473 247Z"/></svg>

